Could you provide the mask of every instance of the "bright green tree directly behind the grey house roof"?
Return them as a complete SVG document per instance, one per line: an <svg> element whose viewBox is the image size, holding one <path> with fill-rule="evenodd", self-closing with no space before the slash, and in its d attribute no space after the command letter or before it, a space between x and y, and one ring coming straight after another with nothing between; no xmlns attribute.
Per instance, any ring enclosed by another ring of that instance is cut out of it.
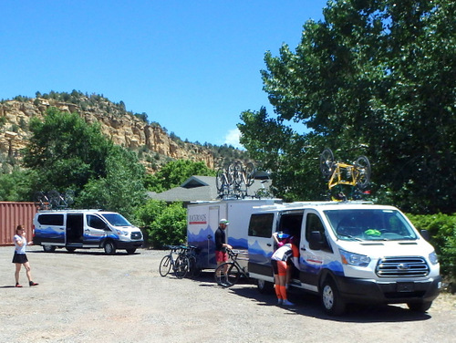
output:
<svg viewBox="0 0 456 343"><path fill-rule="evenodd" d="M159 172L147 175L145 184L149 191L163 192L180 186L192 175L215 176L215 172L202 161L171 161L166 163Z"/></svg>

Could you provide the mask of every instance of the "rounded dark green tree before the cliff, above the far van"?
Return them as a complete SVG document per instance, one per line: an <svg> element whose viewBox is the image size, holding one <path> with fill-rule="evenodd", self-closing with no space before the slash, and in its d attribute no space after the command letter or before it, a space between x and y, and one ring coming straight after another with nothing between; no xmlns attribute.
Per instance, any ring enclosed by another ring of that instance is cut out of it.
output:
<svg viewBox="0 0 456 343"><path fill-rule="evenodd" d="M36 171L39 190L78 191L89 180L106 177L106 157L113 144L97 124L50 108L44 121L30 120L30 130L23 162Z"/></svg>

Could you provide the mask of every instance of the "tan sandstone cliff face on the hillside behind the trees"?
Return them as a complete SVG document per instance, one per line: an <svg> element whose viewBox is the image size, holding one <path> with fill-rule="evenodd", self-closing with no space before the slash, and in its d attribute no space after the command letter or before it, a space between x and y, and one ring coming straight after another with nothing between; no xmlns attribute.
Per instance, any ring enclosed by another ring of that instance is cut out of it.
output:
<svg viewBox="0 0 456 343"><path fill-rule="evenodd" d="M25 102L7 100L0 103L0 156L21 158L20 151L26 147L31 136L28 123L31 118L43 118L47 108L56 107L68 113L77 112L89 124L98 122L101 131L114 144L140 153L140 161L148 172L153 172L149 156L153 154L157 161L161 158L175 160L203 161L209 168L214 168L212 151L190 142L175 141L158 124L148 124L140 118L124 111L113 109L109 101L102 106L85 106L81 109L73 103L53 99L28 99ZM109 107L110 106L110 107ZM3 125L1 125L4 123ZM155 165L156 167L156 165Z"/></svg>

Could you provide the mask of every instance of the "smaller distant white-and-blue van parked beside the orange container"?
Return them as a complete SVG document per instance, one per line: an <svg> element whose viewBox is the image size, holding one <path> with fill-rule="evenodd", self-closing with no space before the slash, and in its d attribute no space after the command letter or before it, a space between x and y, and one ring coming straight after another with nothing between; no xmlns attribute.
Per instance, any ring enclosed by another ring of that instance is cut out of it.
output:
<svg viewBox="0 0 456 343"><path fill-rule="evenodd" d="M144 243L140 229L121 214L99 210L41 211L35 214L33 243L46 252L65 247L104 248L106 254L125 249L134 254Z"/></svg>

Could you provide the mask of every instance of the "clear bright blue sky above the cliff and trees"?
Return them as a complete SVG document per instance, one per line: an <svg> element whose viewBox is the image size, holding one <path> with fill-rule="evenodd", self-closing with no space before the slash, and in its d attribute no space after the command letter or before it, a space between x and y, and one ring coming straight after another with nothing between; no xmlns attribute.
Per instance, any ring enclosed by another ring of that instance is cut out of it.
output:
<svg viewBox="0 0 456 343"><path fill-rule="evenodd" d="M264 53L295 48L326 0L4 0L0 99L102 94L182 140L237 145L242 111L269 112Z"/></svg>

